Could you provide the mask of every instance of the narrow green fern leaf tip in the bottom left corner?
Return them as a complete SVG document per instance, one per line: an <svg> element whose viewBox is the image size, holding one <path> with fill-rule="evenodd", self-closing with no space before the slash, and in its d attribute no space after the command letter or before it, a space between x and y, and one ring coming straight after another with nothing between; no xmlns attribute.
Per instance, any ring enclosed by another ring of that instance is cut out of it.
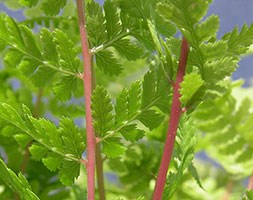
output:
<svg viewBox="0 0 253 200"><path fill-rule="evenodd" d="M32 192L31 186L25 177L19 173L18 176L0 159L0 178L14 191L17 192L21 199L39 200Z"/></svg>

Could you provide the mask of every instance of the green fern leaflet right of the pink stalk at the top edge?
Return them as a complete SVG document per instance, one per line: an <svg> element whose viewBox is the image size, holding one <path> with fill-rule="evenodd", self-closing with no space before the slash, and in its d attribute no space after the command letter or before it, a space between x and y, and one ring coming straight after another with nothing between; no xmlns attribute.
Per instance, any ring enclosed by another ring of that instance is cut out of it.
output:
<svg viewBox="0 0 253 200"><path fill-rule="evenodd" d="M98 3L87 4L87 30L92 43L92 52L96 54L96 64L105 74L117 76L122 67L114 56L114 49L128 60L137 60L143 55L143 50L132 38L126 38L130 29L125 28L119 17L119 12L111 0L105 1L104 13Z"/></svg>

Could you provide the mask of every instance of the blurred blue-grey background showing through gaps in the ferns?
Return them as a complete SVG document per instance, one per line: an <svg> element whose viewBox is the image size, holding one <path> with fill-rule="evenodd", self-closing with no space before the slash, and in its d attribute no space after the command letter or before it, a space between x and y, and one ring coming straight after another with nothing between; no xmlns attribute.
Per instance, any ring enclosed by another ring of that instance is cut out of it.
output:
<svg viewBox="0 0 253 200"><path fill-rule="evenodd" d="M102 4L103 0L98 0L98 2ZM21 11L9 10L3 3L0 3L0 11L7 12L17 20L24 19ZM221 37L236 25L241 28L244 23L250 25L253 22L253 0L214 0L208 15L212 13L220 17L218 37ZM234 73L233 78L244 78L246 85L253 85L253 55L243 58L239 64L240 68Z"/></svg>

